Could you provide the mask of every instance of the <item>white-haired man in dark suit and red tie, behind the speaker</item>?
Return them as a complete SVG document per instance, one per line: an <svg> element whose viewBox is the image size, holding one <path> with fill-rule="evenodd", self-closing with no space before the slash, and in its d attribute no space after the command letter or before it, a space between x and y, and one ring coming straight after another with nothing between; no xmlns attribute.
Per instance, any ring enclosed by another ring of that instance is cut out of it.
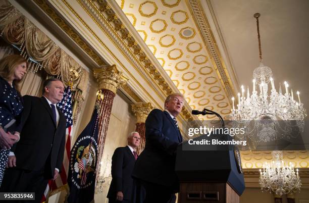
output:
<svg viewBox="0 0 309 203"><path fill-rule="evenodd" d="M112 183L107 197L109 203L131 202L132 171L137 159L136 147L139 146L138 132L131 132L128 136L128 145L118 147L112 157Z"/></svg>

